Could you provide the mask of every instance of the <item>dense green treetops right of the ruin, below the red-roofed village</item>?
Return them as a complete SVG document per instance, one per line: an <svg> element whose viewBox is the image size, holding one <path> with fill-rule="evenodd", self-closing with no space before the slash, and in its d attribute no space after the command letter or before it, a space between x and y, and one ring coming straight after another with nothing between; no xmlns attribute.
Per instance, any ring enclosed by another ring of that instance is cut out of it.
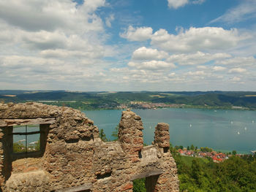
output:
<svg viewBox="0 0 256 192"><path fill-rule="evenodd" d="M180 191L256 191L256 158L233 155L222 163L174 155ZM190 162L190 164L188 163Z"/></svg>

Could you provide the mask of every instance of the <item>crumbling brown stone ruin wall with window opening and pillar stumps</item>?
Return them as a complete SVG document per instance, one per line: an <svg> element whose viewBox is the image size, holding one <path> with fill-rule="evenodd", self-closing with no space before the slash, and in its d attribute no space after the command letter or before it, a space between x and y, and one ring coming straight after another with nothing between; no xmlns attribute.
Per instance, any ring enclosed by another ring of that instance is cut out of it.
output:
<svg viewBox="0 0 256 192"><path fill-rule="evenodd" d="M12 126L39 123L37 157L12 154ZM169 126L159 123L153 145L143 147L140 116L124 111L117 142L102 142L99 129L82 112L39 103L0 104L2 191L132 191L146 178L147 191L178 191L170 154ZM0 191L1 191L0 190Z"/></svg>

